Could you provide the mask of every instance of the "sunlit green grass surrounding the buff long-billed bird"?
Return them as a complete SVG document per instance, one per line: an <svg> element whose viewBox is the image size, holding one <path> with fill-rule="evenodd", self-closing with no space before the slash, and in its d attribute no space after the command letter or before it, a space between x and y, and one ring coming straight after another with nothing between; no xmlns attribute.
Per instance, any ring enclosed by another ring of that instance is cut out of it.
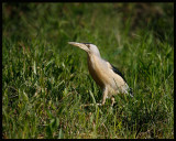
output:
<svg viewBox="0 0 176 141"><path fill-rule="evenodd" d="M174 4L143 4L3 3L2 138L174 139ZM81 107L102 93L69 41L96 44L134 97Z"/></svg>

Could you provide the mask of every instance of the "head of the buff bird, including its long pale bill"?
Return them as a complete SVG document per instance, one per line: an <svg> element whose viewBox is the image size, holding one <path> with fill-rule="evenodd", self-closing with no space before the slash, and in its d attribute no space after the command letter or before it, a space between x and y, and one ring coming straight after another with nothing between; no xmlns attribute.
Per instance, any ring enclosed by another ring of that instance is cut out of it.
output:
<svg viewBox="0 0 176 141"><path fill-rule="evenodd" d="M78 46L79 48L86 51L88 54L94 54L97 56L100 56L100 52L98 47L90 43L77 43L77 42L68 42L68 44L72 44L74 46Z"/></svg>

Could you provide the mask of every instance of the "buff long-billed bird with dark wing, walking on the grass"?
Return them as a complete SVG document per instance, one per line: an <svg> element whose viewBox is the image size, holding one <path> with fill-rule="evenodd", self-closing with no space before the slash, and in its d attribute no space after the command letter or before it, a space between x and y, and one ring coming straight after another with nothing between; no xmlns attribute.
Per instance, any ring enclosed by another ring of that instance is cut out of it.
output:
<svg viewBox="0 0 176 141"><path fill-rule="evenodd" d="M113 96L117 94L129 94L133 97L132 89L122 73L108 61L101 58L100 52L95 44L78 42L68 42L68 44L87 53L89 74L102 90L102 100L98 104L99 106L103 106L107 98L111 98L111 106L113 106L116 102Z"/></svg>

